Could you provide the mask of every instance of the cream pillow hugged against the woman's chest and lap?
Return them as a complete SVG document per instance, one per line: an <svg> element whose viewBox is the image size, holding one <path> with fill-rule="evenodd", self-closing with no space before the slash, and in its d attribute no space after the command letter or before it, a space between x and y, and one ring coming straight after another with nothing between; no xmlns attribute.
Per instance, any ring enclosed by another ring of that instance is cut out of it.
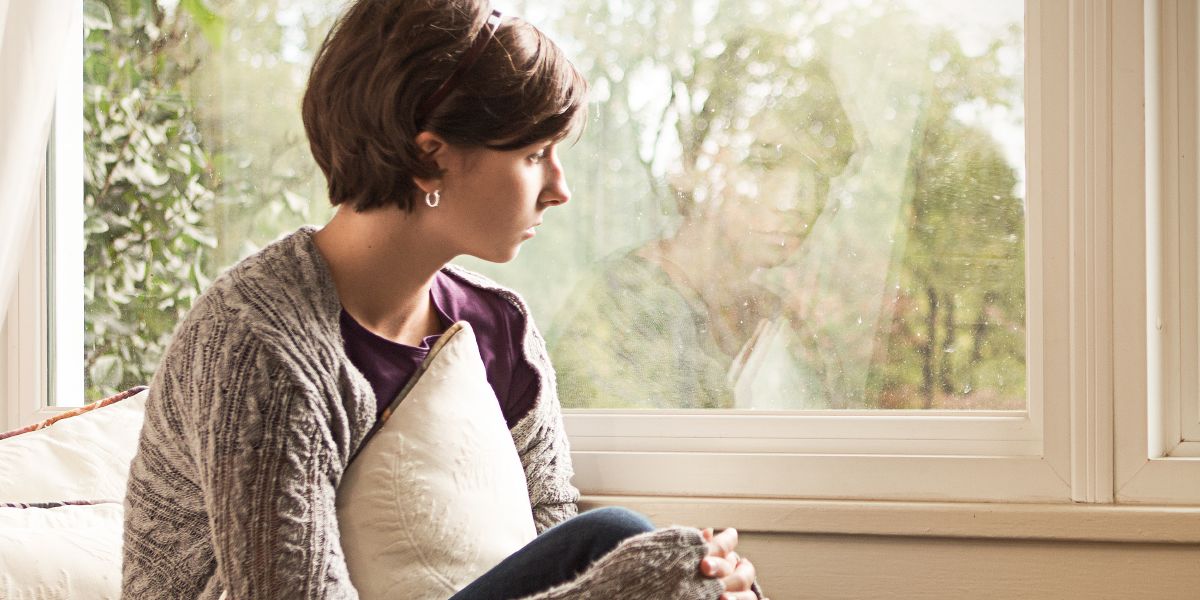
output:
<svg viewBox="0 0 1200 600"><path fill-rule="evenodd" d="M470 325L454 324L350 462L337 518L364 600L445 600L536 535Z"/></svg>

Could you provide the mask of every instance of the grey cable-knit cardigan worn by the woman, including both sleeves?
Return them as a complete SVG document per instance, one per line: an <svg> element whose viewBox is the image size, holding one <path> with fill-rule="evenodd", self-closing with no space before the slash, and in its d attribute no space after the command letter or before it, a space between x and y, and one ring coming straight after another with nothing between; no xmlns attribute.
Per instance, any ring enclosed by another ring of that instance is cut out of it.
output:
<svg viewBox="0 0 1200 600"><path fill-rule="evenodd" d="M342 347L341 304L304 228L242 260L179 325L150 386L125 498L122 592L138 600L356 599L338 539L338 481L374 421L371 385ZM510 431L538 532L576 515L578 491L553 370L528 308L534 408ZM529 600L712 600L696 529L617 547L576 580Z"/></svg>

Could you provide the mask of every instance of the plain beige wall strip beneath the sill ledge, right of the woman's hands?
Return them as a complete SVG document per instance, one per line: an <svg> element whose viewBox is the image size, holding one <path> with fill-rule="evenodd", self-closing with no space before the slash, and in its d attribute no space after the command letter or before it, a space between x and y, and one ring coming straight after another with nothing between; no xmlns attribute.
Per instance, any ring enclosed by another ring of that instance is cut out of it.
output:
<svg viewBox="0 0 1200 600"><path fill-rule="evenodd" d="M740 546L772 600L1200 596L1195 544L748 533Z"/></svg>

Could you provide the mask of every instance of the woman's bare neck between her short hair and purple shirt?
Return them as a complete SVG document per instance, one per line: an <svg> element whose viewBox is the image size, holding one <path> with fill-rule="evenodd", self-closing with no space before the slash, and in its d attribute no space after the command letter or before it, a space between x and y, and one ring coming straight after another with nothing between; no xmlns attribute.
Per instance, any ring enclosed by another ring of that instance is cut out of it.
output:
<svg viewBox="0 0 1200 600"><path fill-rule="evenodd" d="M415 214L392 208L358 212L342 205L313 235L329 264L337 298L371 332L420 346L440 332L430 301L433 276L452 256L422 232Z"/></svg>

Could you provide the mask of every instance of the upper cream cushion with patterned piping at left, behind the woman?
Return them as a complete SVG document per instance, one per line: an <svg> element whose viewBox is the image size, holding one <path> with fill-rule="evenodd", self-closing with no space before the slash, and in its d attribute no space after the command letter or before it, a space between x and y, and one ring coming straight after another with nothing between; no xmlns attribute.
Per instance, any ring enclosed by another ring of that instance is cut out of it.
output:
<svg viewBox="0 0 1200 600"><path fill-rule="evenodd" d="M125 498L149 395L0 439L0 503Z"/></svg>

